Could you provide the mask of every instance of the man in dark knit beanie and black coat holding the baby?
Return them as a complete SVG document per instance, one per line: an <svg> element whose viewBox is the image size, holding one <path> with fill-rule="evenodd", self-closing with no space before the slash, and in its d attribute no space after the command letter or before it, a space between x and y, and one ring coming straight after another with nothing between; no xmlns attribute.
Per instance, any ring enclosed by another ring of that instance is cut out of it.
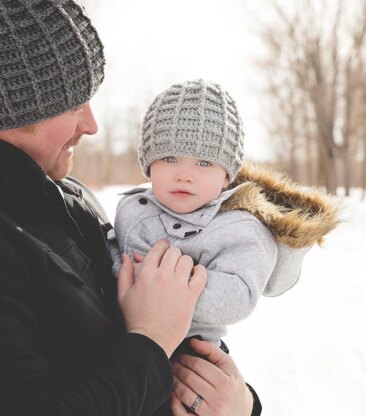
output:
<svg viewBox="0 0 366 416"><path fill-rule="evenodd" d="M108 224L63 180L74 146L97 131L89 100L103 68L102 44L76 0L0 0L4 416L163 414L169 357L205 284L203 267L159 241L136 282L125 256L116 287ZM251 414L230 357L192 346L209 361L174 363L173 414L187 414L181 402L199 415Z"/></svg>

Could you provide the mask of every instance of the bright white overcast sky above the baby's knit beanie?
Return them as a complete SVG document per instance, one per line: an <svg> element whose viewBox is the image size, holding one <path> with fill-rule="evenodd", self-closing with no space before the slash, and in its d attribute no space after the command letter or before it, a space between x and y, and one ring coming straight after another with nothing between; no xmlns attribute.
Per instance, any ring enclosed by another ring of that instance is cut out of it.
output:
<svg viewBox="0 0 366 416"><path fill-rule="evenodd" d="M298 0L281 0L286 7ZM334 4L334 0L327 0ZM356 0L357 1L357 0ZM84 0L107 58L106 80L94 99L98 120L129 108L144 111L172 83L203 78L221 84L237 102L247 158L272 154L260 88L263 53L255 16L271 18L270 0ZM102 123L100 123L102 124ZM122 123L121 141L126 132Z"/></svg>

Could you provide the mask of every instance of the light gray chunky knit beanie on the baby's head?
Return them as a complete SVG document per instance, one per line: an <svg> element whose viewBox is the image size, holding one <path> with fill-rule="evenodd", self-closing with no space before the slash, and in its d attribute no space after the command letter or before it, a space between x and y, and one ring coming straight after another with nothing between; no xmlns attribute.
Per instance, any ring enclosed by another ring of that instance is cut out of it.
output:
<svg viewBox="0 0 366 416"><path fill-rule="evenodd" d="M144 175L154 160L193 156L218 163L232 181L244 158L244 131L234 100L203 80L175 84L158 95L143 120L139 161Z"/></svg>

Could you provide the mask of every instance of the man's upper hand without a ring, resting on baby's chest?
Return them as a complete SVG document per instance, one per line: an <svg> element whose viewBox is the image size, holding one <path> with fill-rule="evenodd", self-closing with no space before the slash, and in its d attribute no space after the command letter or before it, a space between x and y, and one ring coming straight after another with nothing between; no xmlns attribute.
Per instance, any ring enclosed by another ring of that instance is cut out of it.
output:
<svg viewBox="0 0 366 416"><path fill-rule="evenodd" d="M187 334L207 271L159 240L142 262L138 279L127 255L118 275L118 303L126 329L146 335L170 357Z"/></svg>

